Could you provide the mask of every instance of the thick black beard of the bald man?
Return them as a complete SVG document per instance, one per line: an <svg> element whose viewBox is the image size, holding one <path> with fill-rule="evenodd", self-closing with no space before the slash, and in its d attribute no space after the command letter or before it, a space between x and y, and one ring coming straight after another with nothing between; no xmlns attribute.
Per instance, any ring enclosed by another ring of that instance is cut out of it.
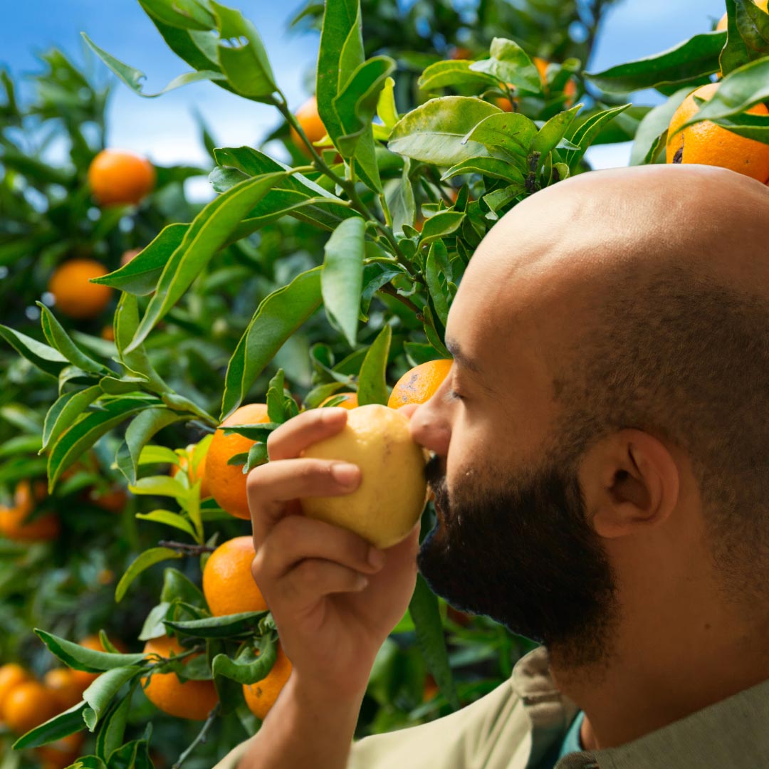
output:
<svg viewBox="0 0 769 769"><path fill-rule="evenodd" d="M616 585L585 514L576 473L548 461L501 484L472 472L449 494L438 457L426 469L438 521L418 569L432 591L544 644L564 668L608 661Z"/></svg>

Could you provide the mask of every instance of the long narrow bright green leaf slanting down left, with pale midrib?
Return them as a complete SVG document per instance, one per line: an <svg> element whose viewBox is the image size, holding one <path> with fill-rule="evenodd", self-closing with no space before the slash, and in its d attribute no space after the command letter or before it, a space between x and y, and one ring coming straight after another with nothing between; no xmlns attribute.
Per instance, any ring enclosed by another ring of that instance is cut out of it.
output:
<svg viewBox="0 0 769 769"><path fill-rule="evenodd" d="M158 281L158 288L151 298L138 330L126 348L126 352L141 345L158 321L187 291L211 257L225 244L228 235L241 219L275 182L285 177L285 171L241 181L231 190L211 201L195 217L174 251Z"/></svg>

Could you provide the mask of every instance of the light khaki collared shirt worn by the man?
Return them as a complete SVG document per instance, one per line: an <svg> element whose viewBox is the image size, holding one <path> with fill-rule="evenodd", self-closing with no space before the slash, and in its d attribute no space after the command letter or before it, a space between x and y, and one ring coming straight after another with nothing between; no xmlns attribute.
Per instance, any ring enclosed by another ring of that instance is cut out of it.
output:
<svg viewBox="0 0 769 769"><path fill-rule="evenodd" d="M538 647L508 681L460 711L353 742L347 769L539 769L554 745L560 753L579 711L555 687L547 649ZM215 769L237 769L250 742ZM555 769L769 769L769 680L627 744L568 751Z"/></svg>

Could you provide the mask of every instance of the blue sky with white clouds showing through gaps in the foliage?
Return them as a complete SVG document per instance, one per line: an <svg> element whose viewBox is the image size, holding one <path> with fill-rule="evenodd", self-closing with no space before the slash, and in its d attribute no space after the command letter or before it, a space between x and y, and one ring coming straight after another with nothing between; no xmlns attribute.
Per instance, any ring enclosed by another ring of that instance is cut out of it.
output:
<svg viewBox="0 0 769 769"><path fill-rule="evenodd" d="M255 22L279 85L292 106L307 95L305 79L318 53L316 35L286 30L301 0L235 0ZM591 69L640 58L670 48L711 28L724 13L724 0L623 0L611 10L594 50ZM33 0L13 2L0 28L0 65L18 75L37 69L35 52L56 45L76 62L84 61L79 33L118 59L147 74L145 91L159 91L185 72L162 42L136 0ZM95 66L105 71L101 62ZM643 96L643 95L642 95ZM644 98L639 99L644 103ZM108 144L148 155L161 164L208 165L192 112L197 109L219 145L253 145L278 124L274 109L238 98L211 83L198 83L159 98L141 98L122 83L115 85L108 113ZM597 147L589 158L596 168L626 165L629 145ZM191 180L195 198L211 197L205 178Z"/></svg>

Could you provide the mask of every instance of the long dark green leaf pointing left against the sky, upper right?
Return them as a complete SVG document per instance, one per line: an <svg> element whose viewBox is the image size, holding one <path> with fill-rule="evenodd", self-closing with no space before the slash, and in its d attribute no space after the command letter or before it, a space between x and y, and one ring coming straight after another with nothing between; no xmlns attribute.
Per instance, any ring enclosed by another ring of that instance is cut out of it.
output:
<svg viewBox="0 0 769 769"><path fill-rule="evenodd" d="M585 73L594 85L610 93L685 83L718 72L718 55L726 32L704 32L667 51L611 67L604 72Z"/></svg>

